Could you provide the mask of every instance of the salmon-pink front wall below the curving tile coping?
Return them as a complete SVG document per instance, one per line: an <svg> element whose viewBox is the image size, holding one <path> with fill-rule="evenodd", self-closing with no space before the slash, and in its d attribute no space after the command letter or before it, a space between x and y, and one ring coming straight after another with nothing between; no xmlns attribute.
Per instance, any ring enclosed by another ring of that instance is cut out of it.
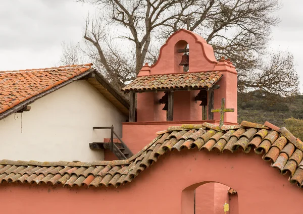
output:
<svg viewBox="0 0 303 214"><path fill-rule="evenodd" d="M1 210L12 214L41 211L45 214L96 211L187 214L193 213L193 206L184 207L188 198L184 198L182 190L201 182L216 181L237 190L241 214L301 213L303 192L287 178L253 152L173 151L160 157L131 183L117 189L3 183L0 185Z"/></svg>

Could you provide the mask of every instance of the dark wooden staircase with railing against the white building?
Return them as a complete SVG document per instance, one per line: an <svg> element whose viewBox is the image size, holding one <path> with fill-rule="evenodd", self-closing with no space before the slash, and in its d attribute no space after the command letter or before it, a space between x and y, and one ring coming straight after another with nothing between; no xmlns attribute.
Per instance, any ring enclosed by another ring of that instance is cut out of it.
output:
<svg viewBox="0 0 303 214"><path fill-rule="evenodd" d="M133 155L131 150L123 142L123 140L115 133L114 126L111 127L92 127L92 129L111 129L110 142L93 142L89 143L90 149L110 149L119 159L128 159ZM117 137L119 142L114 142Z"/></svg>

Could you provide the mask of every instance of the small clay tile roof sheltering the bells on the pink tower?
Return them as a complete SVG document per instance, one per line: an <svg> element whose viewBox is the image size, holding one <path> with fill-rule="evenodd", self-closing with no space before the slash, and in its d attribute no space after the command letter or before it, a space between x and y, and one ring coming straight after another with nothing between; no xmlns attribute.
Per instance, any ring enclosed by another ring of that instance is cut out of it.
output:
<svg viewBox="0 0 303 214"><path fill-rule="evenodd" d="M186 72L178 74L148 75L136 78L121 91L149 91L169 89L210 89L222 77L219 71Z"/></svg>

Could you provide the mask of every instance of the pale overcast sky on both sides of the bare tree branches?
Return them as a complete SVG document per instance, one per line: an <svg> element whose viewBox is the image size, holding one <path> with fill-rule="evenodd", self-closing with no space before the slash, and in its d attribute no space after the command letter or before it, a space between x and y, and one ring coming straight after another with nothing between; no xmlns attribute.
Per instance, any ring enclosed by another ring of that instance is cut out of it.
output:
<svg viewBox="0 0 303 214"><path fill-rule="evenodd" d="M294 55L303 92L302 0L282 0L277 13L281 18L273 28L270 47L289 50ZM52 67L58 64L63 41L79 42L87 14L94 13L88 4L73 0L1 0L0 71Z"/></svg>

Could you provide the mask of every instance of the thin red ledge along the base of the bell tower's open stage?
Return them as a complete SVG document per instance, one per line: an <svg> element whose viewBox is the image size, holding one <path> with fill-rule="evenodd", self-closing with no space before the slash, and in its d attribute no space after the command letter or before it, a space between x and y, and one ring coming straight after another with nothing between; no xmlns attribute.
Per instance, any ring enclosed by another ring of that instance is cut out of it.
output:
<svg viewBox="0 0 303 214"><path fill-rule="evenodd" d="M147 122L124 122L123 126L133 125L164 125L164 124L203 124L203 123L220 123L218 120L205 120L205 121L147 121ZM225 125L238 125L238 123L224 122Z"/></svg>

